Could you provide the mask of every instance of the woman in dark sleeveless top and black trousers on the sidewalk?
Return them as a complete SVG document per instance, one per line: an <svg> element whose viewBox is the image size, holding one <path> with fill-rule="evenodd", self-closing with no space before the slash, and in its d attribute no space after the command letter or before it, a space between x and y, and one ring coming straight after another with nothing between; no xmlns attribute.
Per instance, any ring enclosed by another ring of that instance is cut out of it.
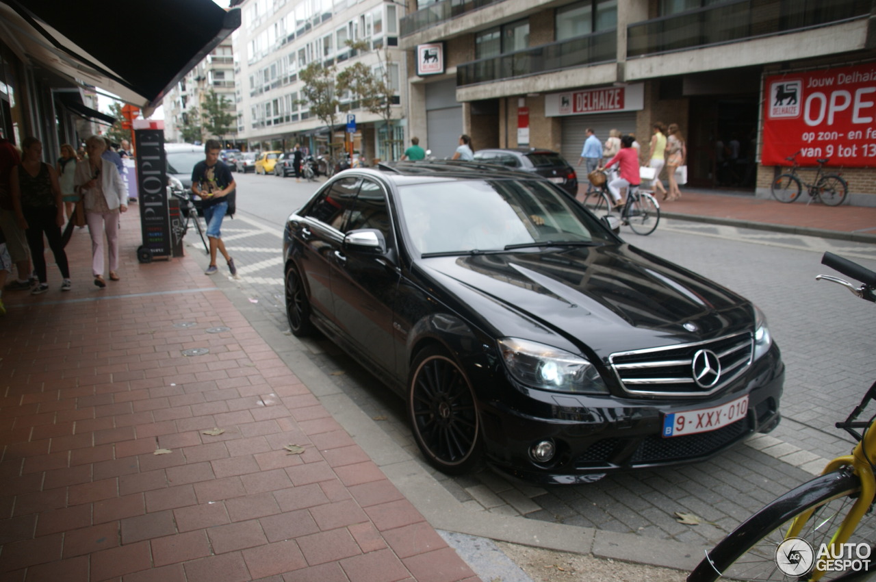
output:
<svg viewBox="0 0 876 582"><path fill-rule="evenodd" d="M70 267L60 236L60 227L64 224L64 203L61 202L58 173L42 161L43 145L39 139L25 138L21 145L24 155L21 163L12 168L10 188L18 228L25 231L39 280L37 286L31 289L31 294L39 295L49 290L44 235L63 278L60 290L69 291Z"/></svg>

